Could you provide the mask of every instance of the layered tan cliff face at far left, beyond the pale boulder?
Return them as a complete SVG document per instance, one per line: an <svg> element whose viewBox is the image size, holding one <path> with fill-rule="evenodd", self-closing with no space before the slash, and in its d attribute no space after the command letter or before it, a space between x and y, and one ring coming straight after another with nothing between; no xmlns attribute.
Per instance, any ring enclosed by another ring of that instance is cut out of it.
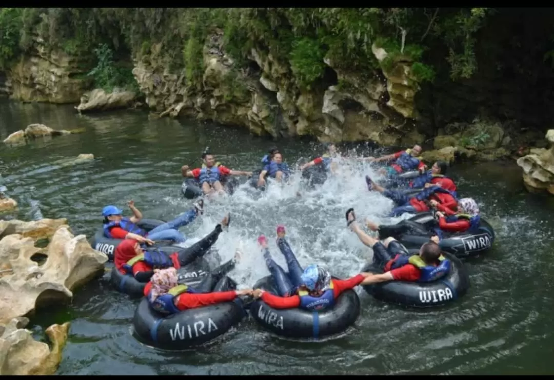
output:
<svg viewBox="0 0 554 380"><path fill-rule="evenodd" d="M37 37L32 49L7 70L0 93L21 101L78 103L92 85L85 75L92 63L87 58L72 57L59 49L49 50Z"/></svg>

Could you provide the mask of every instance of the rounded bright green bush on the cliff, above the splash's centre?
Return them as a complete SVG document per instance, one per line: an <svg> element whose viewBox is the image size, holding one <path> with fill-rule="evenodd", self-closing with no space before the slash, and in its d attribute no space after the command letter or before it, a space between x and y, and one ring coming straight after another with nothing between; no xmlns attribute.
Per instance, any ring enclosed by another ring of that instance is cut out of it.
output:
<svg viewBox="0 0 554 380"><path fill-rule="evenodd" d="M290 66L301 86L310 88L310 85L321 77L325 70L325 53L315 39L305 37L293 43Z"/></svg>

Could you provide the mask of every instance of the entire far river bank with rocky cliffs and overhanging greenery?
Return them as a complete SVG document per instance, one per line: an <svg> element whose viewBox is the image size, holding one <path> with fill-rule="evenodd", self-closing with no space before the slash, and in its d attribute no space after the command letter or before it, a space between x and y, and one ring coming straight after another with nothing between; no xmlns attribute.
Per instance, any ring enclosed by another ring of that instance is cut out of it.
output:
<svg viewBox="0 0 554 380"><path fill-rule="evenodd" d="M12 99L143 106L276 139L423 143L429 160L546 146L544 10L14 9L0 20L19 47L0 68Z"/></svg>

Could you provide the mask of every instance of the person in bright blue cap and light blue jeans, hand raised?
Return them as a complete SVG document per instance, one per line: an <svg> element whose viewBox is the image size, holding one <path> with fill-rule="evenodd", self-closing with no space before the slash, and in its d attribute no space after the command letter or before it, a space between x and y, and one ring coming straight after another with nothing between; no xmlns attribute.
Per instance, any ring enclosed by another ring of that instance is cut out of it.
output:
<svg viewBox="0 0 554 380"><path fill-rule="evenodd" d="M142 213L135 207L135 202L129 201L127 205L133 213L130 218L124 218L122 210L115 206L106 206L102 209L106 238L134 239L139 243L147 244L153 244L153 240L173 240L175 243L183 243L187 238L178 231L178 228L191 223L199 214L202 214L204 202L200 200L194 203L193 208L186 213L179 215L171 222L160 224L148 232L137 226L142 219Z"/></svg>

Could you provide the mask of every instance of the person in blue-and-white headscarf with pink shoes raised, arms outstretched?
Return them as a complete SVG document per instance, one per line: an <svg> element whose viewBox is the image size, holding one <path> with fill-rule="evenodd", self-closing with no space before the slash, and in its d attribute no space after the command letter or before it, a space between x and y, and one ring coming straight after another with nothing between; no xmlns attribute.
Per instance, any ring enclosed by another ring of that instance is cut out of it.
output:
<svg viewBox="0 0 554 380"><path fill-rule="evenodd" d="M289 243L285 240L285 227L277 227L277 245L285 256L289 267L289 275L273 261L264 235L260 235L258 243L264 255L265 264L277 285L279 295L268 291L255 289L254 299L261 297L268 306L274 309L292 309L300 307L305 310L324 310L332 307L335 300L345 290L360 285L368 273L360 273L347 280L332 279L328 271L317 265L302 269Z"/></svg>

